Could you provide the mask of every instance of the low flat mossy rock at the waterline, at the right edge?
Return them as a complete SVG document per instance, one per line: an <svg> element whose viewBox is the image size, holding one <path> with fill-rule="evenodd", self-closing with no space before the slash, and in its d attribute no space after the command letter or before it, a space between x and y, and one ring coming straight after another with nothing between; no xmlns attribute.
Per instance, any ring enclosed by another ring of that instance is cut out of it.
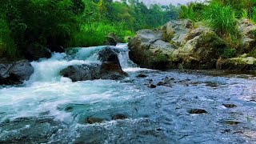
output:
<svg viewBox="0 0 256 144"><path fill-rule="evenodd" d="M220 70L256 70L256 58L246 57L246 54L238 58L219 58L217 68Z"/></svg>

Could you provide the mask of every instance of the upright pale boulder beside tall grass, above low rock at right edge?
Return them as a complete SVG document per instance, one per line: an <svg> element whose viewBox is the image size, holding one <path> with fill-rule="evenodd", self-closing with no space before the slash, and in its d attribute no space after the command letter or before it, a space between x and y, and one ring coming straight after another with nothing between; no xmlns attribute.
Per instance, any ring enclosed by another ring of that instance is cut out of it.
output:
<svg viewBox="0 0 256 144"><path fill-rule="evenodd" d="M240 49L238 52L243 54L254 50L254 47L256 46L256 26L254 25L254 22L249 19L242 19L239 22L238 29L242 34Z"/></svg>

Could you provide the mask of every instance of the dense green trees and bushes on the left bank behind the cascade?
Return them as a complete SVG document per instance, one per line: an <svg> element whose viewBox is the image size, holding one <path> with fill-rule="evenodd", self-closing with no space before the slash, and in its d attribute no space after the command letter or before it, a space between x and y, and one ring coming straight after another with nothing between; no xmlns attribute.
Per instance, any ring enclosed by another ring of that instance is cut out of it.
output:
<svg viewBox="0 0 256 144"><path fill-rule="evenodd" d="M129 4L128 4L129 3ZM20 58L30 46L97 46L110 32L125 38L178 17L175 6L137 0L1 0L0 57Z"/></svg>

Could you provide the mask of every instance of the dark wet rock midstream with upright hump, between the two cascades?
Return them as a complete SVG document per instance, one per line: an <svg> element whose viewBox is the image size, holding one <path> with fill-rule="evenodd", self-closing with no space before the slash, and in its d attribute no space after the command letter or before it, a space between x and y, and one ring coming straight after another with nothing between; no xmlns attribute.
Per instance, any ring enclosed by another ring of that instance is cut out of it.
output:
<svg viewBox="0 0 256 144"><path fill-rule="evenodd" d="M119 80L128 75L122 70L118 54L110 46L106 46L98 52L98 59L102 61L102 64L91 63L68 66L61 70L60 74L63 77L70 78L73 82L94 79Z"/></svg>

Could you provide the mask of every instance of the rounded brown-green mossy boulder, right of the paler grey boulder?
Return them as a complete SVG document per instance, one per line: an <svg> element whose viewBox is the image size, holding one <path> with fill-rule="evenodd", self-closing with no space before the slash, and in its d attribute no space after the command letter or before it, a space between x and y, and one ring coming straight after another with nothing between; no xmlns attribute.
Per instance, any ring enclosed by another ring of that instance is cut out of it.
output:
<svg viewBox="0 0 256 144"><path fill-rule="evenodd" d="M186 37L185 46L175 50L173 62L181 62L189 69L214 69L219 57L218 50L226 48L226 42L212 30L198 28Z"/></svg>

